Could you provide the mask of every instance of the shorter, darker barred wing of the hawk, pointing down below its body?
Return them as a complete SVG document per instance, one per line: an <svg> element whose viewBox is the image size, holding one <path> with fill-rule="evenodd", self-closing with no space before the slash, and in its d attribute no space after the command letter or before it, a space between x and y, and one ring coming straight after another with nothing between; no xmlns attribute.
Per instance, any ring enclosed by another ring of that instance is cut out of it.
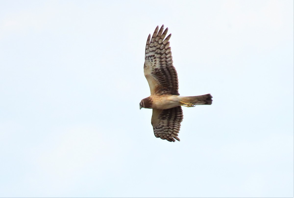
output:
<svg viewBox="0 0 294 198"><path fill-rule="evenodd" d="M153 109L151 124L154 135L167 141L175 141L178 138L181 122L183 121L183 110L181 106L171 109ZM175 138L175 139L174 139Z"/></svg>

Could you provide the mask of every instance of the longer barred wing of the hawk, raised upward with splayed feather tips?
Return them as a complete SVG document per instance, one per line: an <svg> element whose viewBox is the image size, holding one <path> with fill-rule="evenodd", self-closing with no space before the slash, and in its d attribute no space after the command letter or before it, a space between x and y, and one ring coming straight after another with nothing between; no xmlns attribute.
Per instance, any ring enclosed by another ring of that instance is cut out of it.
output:
<svg viewBox="0 0 294 198"><path fill-rule="evenodd" d="M173 67L173 57L171 47L169 47L169 34L166 39L168 28L163 31L163 25L159 29L157 26L152 38L149 34L146 50L144 75L148 81L151 95L180 95L178 93L178 74Z"/></svg>

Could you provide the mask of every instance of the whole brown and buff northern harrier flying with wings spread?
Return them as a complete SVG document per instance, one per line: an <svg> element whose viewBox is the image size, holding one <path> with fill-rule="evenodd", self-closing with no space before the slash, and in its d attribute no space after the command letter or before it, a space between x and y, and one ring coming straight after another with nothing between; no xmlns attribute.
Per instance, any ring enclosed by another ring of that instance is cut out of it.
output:
<svg viewBox="0 0 294 198"><path fill-rule="evenodd" d="M151 124L155 137L174 142L175 139L180 141L178 133L183 121L181 106L211 105L212 96L210 94L180 96L178 74L173 66L171 47L169 47L171 34L165 38L168 28L164 31L163 29L163 25L160 29L157 26L152 38L149 34L147 39L144 75L148 81L151 95L141 100L140 109L153 109Z"/></svg>

